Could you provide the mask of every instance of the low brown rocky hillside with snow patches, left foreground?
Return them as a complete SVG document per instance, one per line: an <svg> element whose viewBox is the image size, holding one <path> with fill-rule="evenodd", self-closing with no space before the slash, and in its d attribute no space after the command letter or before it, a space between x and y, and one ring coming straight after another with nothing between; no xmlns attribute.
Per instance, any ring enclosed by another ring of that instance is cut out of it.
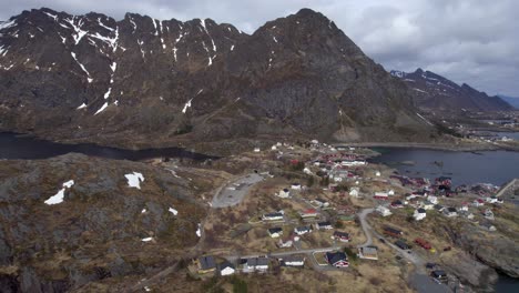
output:
<svg viewBox="0 0 519 293"><path fill-rule="evenodd" d="M167 267L199 242L205 210L190 184L80 154L2 161L0 291L68 292Z"/></svg>

